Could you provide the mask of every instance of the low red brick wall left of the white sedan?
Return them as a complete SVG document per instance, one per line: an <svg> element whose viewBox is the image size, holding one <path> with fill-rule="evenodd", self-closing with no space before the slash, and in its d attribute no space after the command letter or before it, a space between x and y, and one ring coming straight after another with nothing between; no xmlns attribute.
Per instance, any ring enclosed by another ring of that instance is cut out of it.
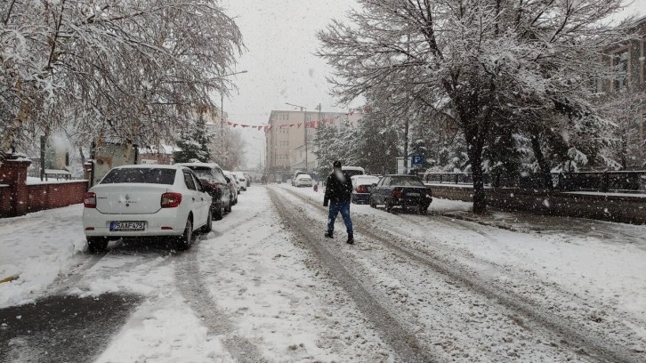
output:
<svg viewBox="0 0 646 363"><path fill-rule="evenodd" d="M28 185L28 213L83 203L87 181Z"/></svg>

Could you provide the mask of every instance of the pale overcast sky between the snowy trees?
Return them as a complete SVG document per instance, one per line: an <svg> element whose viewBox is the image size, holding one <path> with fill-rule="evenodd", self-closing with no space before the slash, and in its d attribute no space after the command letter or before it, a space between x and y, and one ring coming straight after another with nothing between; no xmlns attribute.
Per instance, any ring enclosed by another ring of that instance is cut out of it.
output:
<svg viewBox="0 0 646 363"><path fill-rule="evenodd" d="M272 109L295 109L294 103L313 110L319 102L323 111L343 110L329 95L324 60L313 55L319 47L316 33L332 19L343 19L355 0L222 0L227 13L242 31L246 52L229 77L238 93L224 99L231 122L266 124ZM636 0L622 14L646 15L646 0ZM359 106L359 101L351 107ZM347 110L347 109L345 109ZM257 165L264 133L244 130L248 165Z"/></svg>

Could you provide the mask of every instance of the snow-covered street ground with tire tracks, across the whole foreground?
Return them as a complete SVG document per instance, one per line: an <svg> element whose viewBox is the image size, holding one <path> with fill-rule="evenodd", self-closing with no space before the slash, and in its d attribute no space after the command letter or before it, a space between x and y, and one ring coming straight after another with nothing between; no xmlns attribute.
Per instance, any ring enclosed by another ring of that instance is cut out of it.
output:
<svg viewBox="0 0 646 363"><path fill-rule="evenodd" d="M254 185L182 254L86 254L82 206L0 220L0 279L19 277L0 284L0 361L646 360L643 226L512 231L440 215L462 202L352 205L348 246L341 220L323 238L321 205Z"/></svg>

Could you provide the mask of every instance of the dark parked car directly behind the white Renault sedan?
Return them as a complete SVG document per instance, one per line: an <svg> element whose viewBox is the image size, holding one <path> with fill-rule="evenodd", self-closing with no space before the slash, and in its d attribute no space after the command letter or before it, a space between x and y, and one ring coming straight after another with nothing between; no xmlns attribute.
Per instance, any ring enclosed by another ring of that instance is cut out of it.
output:
<svg viewBox="0 0 646 363"><path fill-rule="evenodd" d="M233 199L229 182L222 173L222 168L213 163L181 163L190 168L202 184L202 188L213 198L211 210L215 220L219 221L224 214L231 211Z"/></svg>

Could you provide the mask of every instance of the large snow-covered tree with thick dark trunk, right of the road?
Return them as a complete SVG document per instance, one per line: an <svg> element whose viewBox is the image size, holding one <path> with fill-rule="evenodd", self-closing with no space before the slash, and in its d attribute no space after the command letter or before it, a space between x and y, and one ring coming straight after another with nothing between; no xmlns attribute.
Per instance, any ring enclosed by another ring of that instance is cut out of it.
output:
<svg viewBox="0 0 646 363"><path fill-rule="evenodd" d="M473 211L486 210L482 151L497 109L554 103L585 109L589 80L609 69L599 53L622 36L606 21L620 0L359 0L350 24L319 33L350 102L397 95L456 120L473 176ZM584 119L585 113L578 114Z"/></svg>

